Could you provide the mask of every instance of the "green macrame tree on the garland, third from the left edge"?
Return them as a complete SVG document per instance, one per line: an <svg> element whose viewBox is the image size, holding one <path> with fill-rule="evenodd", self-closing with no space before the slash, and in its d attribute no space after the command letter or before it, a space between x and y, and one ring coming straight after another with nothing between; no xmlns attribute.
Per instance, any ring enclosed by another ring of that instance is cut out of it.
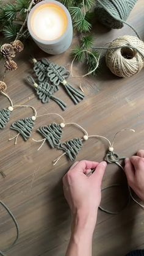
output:
<svg viewBox="0 0 144 256"><path fill-rule="evenodd" d="M49 126L41 126L37 131L49 142L52 148L60 145L63 131L59 124L51 123Z"/></svg>

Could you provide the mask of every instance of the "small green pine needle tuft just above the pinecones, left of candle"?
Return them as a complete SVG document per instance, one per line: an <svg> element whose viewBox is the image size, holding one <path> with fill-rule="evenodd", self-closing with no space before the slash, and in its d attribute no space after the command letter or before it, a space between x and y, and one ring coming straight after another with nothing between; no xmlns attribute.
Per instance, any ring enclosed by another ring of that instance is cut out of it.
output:
<svg viewBox="0 0 144 256"><path fill-rule="evenodd" d="M14 25L13 23L10 23L9 25L5 26L3 29L4 36L7 37L8 39L14 39L20 31L19 25Z"/></svg>

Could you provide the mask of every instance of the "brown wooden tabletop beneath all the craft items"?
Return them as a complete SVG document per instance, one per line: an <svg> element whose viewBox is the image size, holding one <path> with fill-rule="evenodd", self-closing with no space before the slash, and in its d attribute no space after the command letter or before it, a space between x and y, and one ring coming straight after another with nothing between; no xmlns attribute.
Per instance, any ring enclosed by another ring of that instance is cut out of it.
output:
<svg viewBox="0 0 144 256"><path fill-rule="evenodd" d="M128 22L132 24L144 40L144 5L143 0L137 1ZM96 21L95 45L103 46L120 35L133 35L128 26L121 30L109 31ZM73 45L77 43L74 36ZM95 78L69 78L75 87L82 83L85 100L74 106L67 94L60 89L57 93L68 108L62 112L59 106L52 102L42 104L37 99L34 90L26 84L27 74L32 73L29 54L37 59L49 57L53 62L70 70L70 52L60 56L48 56L36 45L29 43L23 53L18 55L18 70L7 74L7 93L15 104L31 104L37 108L38 115L56 112L65 118L66 122L76 122L84 126L88 134L101 134L113 139L114 134L123 128L133 128L135 133L125 132L115 142L115 152L121 156L132 156L144 147L144 103L143 80L144 70L131 78L118 78L110 73L104 59L98 76ZM4 71L1 61L0 75ZM74 64L74 73L82 75L85 70L79 64ZM1 108L9 106L6 98L0 96ZM20 225L20 240L7 256L64 256L70 238L70 211L62 191L62 177L71 166L64 156L59 164L52 166L52 160L61 152L50 149L45 143L37 152L38 143L32 139L24 142L18 138L18 144L9 142L9 137L15 136L15 131L9 130L15 120L32 115L31 109L17 109L13 112L7 128L0 131L0 167L6 178L0 177L0 198L6 203ZM41 117L37 120L33 137L40 139L37 128L51 122L60 122L58 117ZM63 141L82 136L77 128L68 127L63 134ZM107 144L97 139L89 139L77 156L77 160L88 159L102 161ZM120 183L124 175L117 166L107 167L104 175L103 188L112 183ZM126 201L126 191L110 189L103 192L102 205L111 210L120 208ZM1 208L0 211L0 248L10 244L15 236L15 227L9 215ZM131 202L129 207L117 216L99 211L98 222L93 238L93 255L124 256L132 249L144 247L144 214L143 210Z"/></svg>

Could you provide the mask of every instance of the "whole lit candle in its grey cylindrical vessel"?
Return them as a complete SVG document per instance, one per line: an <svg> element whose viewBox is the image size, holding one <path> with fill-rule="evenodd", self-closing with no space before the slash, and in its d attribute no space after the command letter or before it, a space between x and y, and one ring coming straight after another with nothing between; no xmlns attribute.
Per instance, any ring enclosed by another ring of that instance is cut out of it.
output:
<svg viewBox="0 0 144 256"><path fill-rule="evenodd" d="M71 45L71 16L60 2L45 0L36 4L29 13L27 26L35 43L46 53L60 54Z"/></svg>

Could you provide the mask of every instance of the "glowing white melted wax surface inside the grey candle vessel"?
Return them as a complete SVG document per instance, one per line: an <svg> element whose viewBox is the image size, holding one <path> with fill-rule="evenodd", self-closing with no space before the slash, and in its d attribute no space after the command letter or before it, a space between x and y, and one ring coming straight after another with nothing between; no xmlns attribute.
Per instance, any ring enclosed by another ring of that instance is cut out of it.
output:
<svg viewBox="0 0 144 256"><path fill-rule="evenodd" d="M56 40L65 33L68 19L66 13L56 4L45 4L35 10L31 26L38 38Z"/></svg>

